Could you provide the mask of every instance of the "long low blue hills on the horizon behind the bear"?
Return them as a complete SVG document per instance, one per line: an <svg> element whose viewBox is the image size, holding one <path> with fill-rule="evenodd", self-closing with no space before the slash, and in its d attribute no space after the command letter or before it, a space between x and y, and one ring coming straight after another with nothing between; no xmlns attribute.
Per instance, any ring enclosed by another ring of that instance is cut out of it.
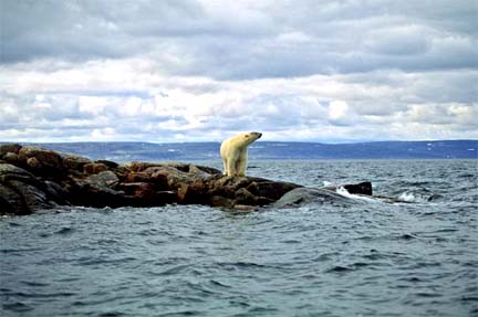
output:
<svg viewBox="0 0 478 317"><path fill-rule="evenodd" d="M219 160L219 142L38 144L58 151L114 161ZM478 140L375 141L357 144L258 141L254 159L477 159Z"/></svg>

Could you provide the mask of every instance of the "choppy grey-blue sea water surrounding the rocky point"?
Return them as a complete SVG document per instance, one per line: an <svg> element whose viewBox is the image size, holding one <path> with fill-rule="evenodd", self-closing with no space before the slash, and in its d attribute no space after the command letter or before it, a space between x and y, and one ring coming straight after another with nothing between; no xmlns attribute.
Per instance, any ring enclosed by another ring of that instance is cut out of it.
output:
<svg viewBox="0 0 478 317"><path fill-rule="evenodd" d="M220 167L219 162L204 162ZM477 316L478 160L252 161L376 194L233 212L62 208L0 220L1 316Z"/></svg>

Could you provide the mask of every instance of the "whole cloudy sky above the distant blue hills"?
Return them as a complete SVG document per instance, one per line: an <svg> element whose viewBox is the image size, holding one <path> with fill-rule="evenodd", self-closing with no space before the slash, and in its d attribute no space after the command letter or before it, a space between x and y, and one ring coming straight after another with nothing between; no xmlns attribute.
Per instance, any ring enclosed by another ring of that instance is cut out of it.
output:
<svg viewBox="0 0 478 317"><path fill-rule="evenodd" d="M477 0L0 0L0 141L478 139Z"/></svg>

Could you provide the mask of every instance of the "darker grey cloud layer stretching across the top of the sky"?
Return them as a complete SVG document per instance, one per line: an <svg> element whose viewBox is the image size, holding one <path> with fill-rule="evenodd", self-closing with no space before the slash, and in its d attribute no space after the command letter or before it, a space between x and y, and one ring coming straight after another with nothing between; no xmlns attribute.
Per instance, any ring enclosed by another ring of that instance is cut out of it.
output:
<svg viewBox="0 0 478 317"><path fill-rule="evenodd" d="M477 67L474 1L2 1L2 61L148 55L217 78ZM177 60L176 60L177 59Z"/></svg>

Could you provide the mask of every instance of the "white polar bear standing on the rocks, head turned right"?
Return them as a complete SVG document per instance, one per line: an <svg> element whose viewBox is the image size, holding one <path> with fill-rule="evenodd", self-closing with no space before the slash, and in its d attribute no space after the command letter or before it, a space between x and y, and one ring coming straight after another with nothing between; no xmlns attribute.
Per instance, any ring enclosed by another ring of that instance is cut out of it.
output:
<svg viewBox="0 0 478 317"><path fill-rule="evenodd" d="M220 154L226 176L246 176L247 147L261 136L260 133L245 133L222 141Z"/></svg>

